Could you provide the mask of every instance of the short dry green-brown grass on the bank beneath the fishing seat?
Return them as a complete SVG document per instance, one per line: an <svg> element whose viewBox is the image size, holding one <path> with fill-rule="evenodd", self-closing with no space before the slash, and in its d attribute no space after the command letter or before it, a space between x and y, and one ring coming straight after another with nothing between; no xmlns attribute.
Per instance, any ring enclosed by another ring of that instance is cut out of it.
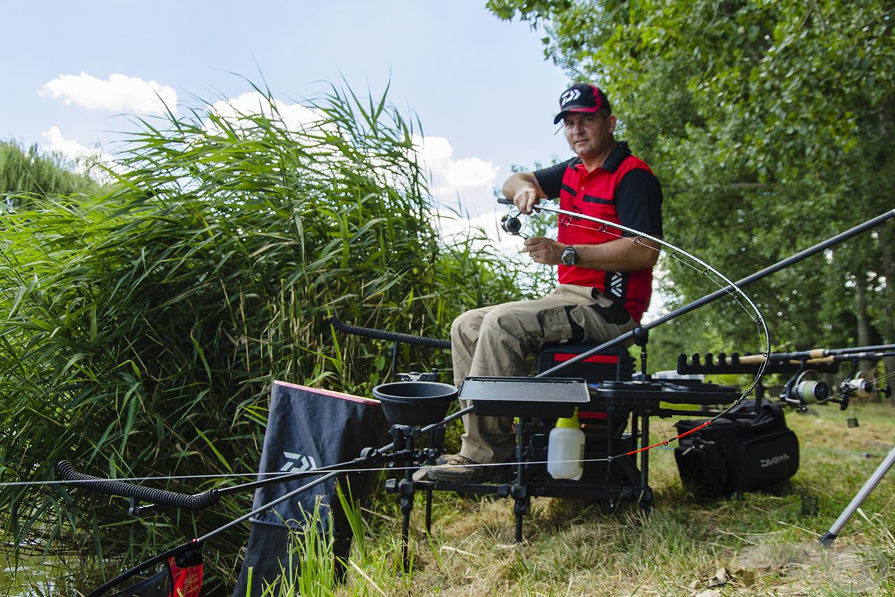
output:
<svg viewBox="0 0 895 597"><path fill-rule="evenodd" d="M786 493L695 503L678 480L672 449L656 449L651 515L630 505L610 514L601 504L535 498L522 544L513 542L511 500L436 494L428 537L420 496L411 586L394 574L400 523L386 497L365 518L363 574L349 566L335 594L889 594L895 476L883 478L832 549L817 543L893 446L891 403L865 404L857 414L860 427L848 428L835 406L788 413L801 468ZM654 420L652 433L670 437L673 422ZM803 494L819 498L816 515L802 515Z"/></svg>

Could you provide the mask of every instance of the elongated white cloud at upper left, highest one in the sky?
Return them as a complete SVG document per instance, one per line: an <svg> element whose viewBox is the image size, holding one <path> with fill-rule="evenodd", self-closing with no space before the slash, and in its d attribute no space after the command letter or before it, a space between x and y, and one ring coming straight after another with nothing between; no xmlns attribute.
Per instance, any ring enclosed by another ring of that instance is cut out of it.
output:
<svg viewBox="0 0 895 597"><path fill-rule="evenodd" d="M177 111L177 92L155 81L113 73L107 80L90 74L60 74L38 90L42 98L62 99L81 108L107 109L135 114Z"/></svg>

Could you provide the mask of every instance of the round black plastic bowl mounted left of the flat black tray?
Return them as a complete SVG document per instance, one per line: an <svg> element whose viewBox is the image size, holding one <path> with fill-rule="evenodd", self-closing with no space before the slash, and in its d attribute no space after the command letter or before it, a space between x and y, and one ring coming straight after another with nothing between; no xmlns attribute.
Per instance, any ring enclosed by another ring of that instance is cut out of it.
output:
<svg viewBox="0 0 895 597"><path fill-rule="evenodd" d="M456 387L437 382L394 382L377 385L373 397L392 425L425 427L447 417L447 407L456 400Z"/></svg>

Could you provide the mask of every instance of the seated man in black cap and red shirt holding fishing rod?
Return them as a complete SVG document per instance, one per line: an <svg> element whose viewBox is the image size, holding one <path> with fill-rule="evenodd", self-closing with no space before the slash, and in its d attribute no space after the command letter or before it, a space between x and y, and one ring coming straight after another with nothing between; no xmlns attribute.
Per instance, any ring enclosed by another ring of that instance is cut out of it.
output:
<svg viewBox="0 0 895 597"><path fill-rule="evenodd" d="M643 160L613 133L616 117L597 87L579 83L559 97L554 124L563 123L576 157L547 169L517 173L503 193L529 214L541 199L661 237L662 193ZM635 327L649 306L659 245L620 229L560 216L558 238L524 241L538 264L557 265L559 285L547 297L467 311L451 327L454 383L465 376L525 376L526 357L554 342L605 342ZM636 242L635 242L636 240ZM511 417L464 417L460 454L439 458L429 478L494 479L505 467L476 466L511 459Z"/></svg>

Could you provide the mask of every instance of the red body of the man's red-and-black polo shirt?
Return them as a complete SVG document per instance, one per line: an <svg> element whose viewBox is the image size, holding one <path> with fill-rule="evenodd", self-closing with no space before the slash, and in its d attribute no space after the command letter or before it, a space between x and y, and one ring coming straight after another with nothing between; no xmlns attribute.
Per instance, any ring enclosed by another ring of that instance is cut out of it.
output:
<svg viewBox="0 0 895 597"><path fill-rule="evenodd" d="M578 162L566 169L559 191L559 207L569 212L583 213L602 220L621 223L616 212L615 191L622 177L635 168L652 173L644 160L629 155L614 171L596 168L588 172L584 164ZM599 245L615 240L622 230L609 228L601 231L602 224L579 220L564 226L559 215L557 240L564 245ZM640 322L646 307L650 306L652 293L652 268L636 272L603 272L575 265L558 265L559 283L592 286L598 288L609 299L625 306L627 312Z"/></svg>

